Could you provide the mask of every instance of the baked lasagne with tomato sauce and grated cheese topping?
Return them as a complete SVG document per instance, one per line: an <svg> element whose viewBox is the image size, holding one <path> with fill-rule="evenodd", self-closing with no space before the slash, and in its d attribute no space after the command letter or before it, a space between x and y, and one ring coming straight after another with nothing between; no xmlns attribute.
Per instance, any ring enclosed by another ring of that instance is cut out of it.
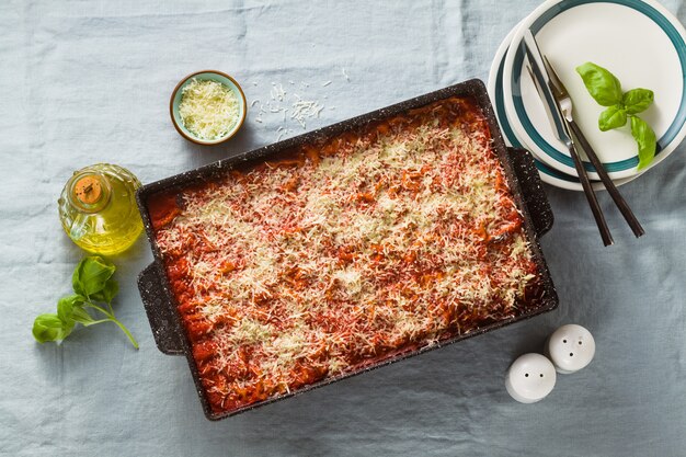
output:
<svg viewBox="0 0 686 457"><path fill-rule="evenodd" d="M215 413L530 311L485 118L453 98L148 202Z"/></svg>

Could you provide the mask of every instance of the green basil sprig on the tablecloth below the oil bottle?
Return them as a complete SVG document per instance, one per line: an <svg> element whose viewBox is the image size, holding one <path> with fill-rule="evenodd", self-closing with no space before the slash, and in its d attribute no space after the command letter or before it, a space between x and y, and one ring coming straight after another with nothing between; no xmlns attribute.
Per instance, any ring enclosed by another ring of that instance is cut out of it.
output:
<svg viewBox="0 0 686 457"><path fill-rule="evenodd" d="M101 256L88 256L81 260L71 276L75 294L57 301L57 313L38 316L33 322L33 336L38 343L61 341L69 336L77 323L83 327L103 322L114 322L126 334L134 347L136 339L126 327L114 317L112 299L119 292L119 286L112 277L116 266ZM96 305L96 304L100 305ZM101 316L94 318L87 309Z"/></svg>

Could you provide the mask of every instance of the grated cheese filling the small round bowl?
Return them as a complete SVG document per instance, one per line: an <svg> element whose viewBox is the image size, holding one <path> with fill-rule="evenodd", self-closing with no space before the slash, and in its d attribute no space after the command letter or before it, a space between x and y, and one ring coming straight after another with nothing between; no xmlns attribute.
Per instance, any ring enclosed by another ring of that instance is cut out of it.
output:
<svg viewBox="0 0 686 457"><path fill-rule="evenodd" d="M236 126L239 100L225 84L193 78L181 93L179 115L183 125L197 138L217 139Z"/></svg>

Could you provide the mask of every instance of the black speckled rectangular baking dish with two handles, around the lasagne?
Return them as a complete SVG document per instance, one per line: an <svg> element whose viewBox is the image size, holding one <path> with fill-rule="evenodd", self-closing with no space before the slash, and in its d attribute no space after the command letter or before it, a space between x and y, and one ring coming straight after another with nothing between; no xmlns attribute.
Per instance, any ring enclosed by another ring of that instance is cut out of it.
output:
<svg viewBox="0 0 686 457"><path fill-rule="evenodd" d="M155 233L150 221L150 216L147 208L148 197L162 191L170 191L174 188L185 188L187 186L202 183L204 181L211 180L218 174L226 172L227 170L243 168L245 165L260 163L267 159L278 159L281 155L291 150L294 147L306 145L322 137L330 137L339 135L346 130L351 130L367 123L380 121L387 117L391 117L408 110L418 108L426 104L448 99L451 96L471 98L481 108L483 115L487 118L491 137L492 147L503 167L504 174L507 179L510 188L514 195L514 199L523 214L524 228L527 239L530 243L534 260L537 263L540 274L541 283L544 287L544 299L541 305L529 311L528 313L521 315L518 317L501 320L492 324L481 327L468 334L462 334L457 338L445 340L438 344L426 346L411 353L405 353L400 356L396 356L384 362L366 366L363 369L346 373L336 377L325 378L321 381L312 384L310 386L300 388L299 390L283 395L276 398L272 398L259 403L250 404L241 409L225 412L214 413L210 409L209 402L205 396L195 361L193 358L190 340L183 328L181 316L176 311L176 300L173 297L170 288L170 283L164 272L162 258L160 250L155 241ZM152 254L155 261L146 267L138 277L138 288L142 298L144 307L150 321L150 327L155 336L158 349L168 355L185 355L193 379L195 381L196 390L198 392L201 403L205 415L209 420L220 420L230 415L235 415L247 410L258 408L277 400L282 400L291 397L296 393L321 387L340 379L358 375L370 369L378 368L390 363L395 363L407 357L419 355L421 353L443 347L447 344L451 344L461 341L466 338L470 338L477 334L485 333L491 330L495 330L503 325L507 325L524 319L531 318L539 313L550 311L558 305L558 297L550 277L550 273L546 265L538 239L545 235L552 227L552 212L548 204L548 199L542 190L538 171L534 164L533 157L526 150L523 149L508 149L505 147L501 137L493 108L491 106L489 96L485 91L485 87L480 80L469 80L459 84L455 84L435 92L431 92L425 95L418 96L412 100L408 100L402 103L398 103L371 113L367 113L357 117L353 117L347 121L343 121L331 126L307 133L287 140L265 146L260 149L255 149L236 157L220 160L198 168L196 170L187 171L174 176L163 179L140 187L136 194L136 199L139 206L139 210L146 227L146 235L150 241Z"/></svg>

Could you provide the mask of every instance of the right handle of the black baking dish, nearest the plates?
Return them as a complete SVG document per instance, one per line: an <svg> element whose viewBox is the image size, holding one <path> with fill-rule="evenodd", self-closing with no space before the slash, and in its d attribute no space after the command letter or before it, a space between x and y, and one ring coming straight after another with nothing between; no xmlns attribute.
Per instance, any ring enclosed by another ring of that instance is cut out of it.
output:
<svg viewBox="0 0 686 457"><path fill-rule="evenodd" d="M507 148L507 153L517 181L519 181L524 203L531 216L536 236L540 238L552 228L554 218L534 162L534 156L526 149L519 148Z"/></svg>

